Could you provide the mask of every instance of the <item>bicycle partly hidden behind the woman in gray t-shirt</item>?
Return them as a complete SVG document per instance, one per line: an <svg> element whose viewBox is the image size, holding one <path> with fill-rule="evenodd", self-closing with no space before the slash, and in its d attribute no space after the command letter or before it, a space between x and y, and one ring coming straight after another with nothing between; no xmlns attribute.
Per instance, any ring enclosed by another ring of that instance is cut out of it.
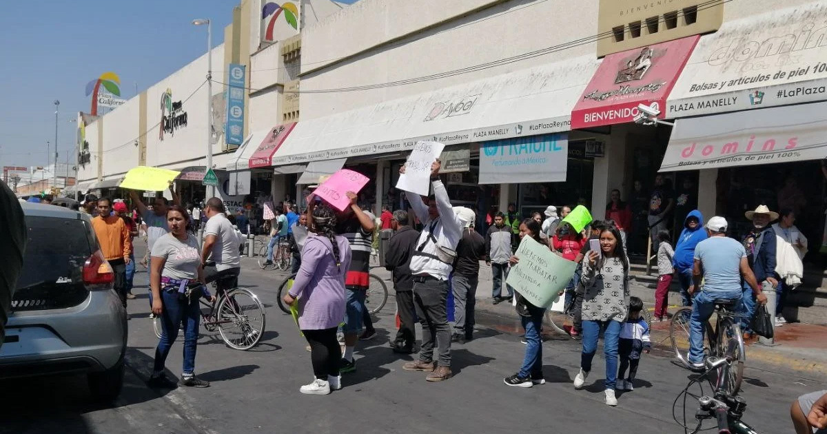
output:
<svg viewBox="0 0 827 434"><path fill-rule="evenodd" d="M212 283L213 288L216 288L218 281L223 279L234 279L234 277L217 279ZM202 286L200 282L187 285L189 289ZM216 298L213 302L208 302L204 298L198 299L201 308L208 308L206 313L203 309L199 309L203 327L211 332L218 329L224 343L234 350L245 351L256 346L261 341L266 319L264 305L261 304L258 296L246 288L216 290L215 293ZM155 336L160 339L160 316L152 316L152 328L155 330ZM233 331L236 328L237 331ZM239 336L233 337L235 334Z"/></svg>

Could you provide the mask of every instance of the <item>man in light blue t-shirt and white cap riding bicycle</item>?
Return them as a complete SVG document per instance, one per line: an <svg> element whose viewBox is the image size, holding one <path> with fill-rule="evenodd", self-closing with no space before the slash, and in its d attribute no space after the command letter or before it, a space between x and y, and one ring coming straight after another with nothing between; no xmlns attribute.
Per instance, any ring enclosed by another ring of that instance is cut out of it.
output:
<svg viewBox="0 0 827 434"><path fill-rule="evenodd" d="M690 295L695 297L689 322L689 363L692 370L704 370L704 325L715 311L715 302L733 300L743 303L742 277L753 289L758 303L767 303L767 296L762 293L753 270L749 268L747 250L741 243L726 236L726 229L724 217L710 218L706 223L709 237L695 248L692 285L688 289Z"/></svg>

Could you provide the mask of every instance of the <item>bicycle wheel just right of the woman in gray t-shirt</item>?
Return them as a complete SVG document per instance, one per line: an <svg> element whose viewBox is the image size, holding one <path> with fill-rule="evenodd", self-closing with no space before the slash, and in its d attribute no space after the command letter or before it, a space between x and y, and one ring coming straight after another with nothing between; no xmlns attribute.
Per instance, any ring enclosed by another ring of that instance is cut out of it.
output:
<svg viewBox="0 0 827 434"><path fill-rule="evenodd" d="M230 348L249 350L256 346L264 327L264 306L249 289L232 289L218 303L218 332Z"/></svg>

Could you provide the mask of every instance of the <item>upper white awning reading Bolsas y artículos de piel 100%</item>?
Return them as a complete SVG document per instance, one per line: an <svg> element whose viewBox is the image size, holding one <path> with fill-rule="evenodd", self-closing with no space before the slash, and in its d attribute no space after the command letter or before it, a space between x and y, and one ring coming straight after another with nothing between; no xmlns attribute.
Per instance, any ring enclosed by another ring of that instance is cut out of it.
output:
<svg viewBox="0 0 827 434"><path fill-rule="evenodd" d="M811 2L726 21L701 36L667 98L666 117L827 100L824 17L827 3Z"/></svg>

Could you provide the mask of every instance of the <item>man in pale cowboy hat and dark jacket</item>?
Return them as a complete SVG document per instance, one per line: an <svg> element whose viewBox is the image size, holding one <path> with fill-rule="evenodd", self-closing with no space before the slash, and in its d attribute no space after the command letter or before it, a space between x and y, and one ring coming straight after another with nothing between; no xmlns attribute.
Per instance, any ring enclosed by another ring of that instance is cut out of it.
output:
<svg viewBox="0 0 827 434"><path fill-rule="evenodd" d="M743 247L747 250L749 267L753 269L755 279L761 283L764 292L775 291L778 286L776 267L776 235L770 222L778 219L778 213L770 211L767 205L758 205L755 211L744 214L753 222L753 229L743 237ZM743 337L753 337L749 323L755 313L755 295L747 284L743 285Z"/></svg>

